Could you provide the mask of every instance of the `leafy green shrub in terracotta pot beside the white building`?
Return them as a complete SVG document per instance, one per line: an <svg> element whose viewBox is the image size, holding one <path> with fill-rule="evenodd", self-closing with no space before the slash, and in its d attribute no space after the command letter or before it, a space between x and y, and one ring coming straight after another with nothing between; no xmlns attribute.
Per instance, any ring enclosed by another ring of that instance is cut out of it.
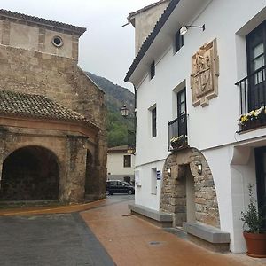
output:
<svg viewBox="0 0 266 266"><path fill-rule="evenodd" d="M246 240L246 254L251 257L266 257L266 228L265 215L262 208L257 209L253 196L253 185L248 184L249 203L246 212L241 212L241 221L244 222L243 235Z"/></svg>

